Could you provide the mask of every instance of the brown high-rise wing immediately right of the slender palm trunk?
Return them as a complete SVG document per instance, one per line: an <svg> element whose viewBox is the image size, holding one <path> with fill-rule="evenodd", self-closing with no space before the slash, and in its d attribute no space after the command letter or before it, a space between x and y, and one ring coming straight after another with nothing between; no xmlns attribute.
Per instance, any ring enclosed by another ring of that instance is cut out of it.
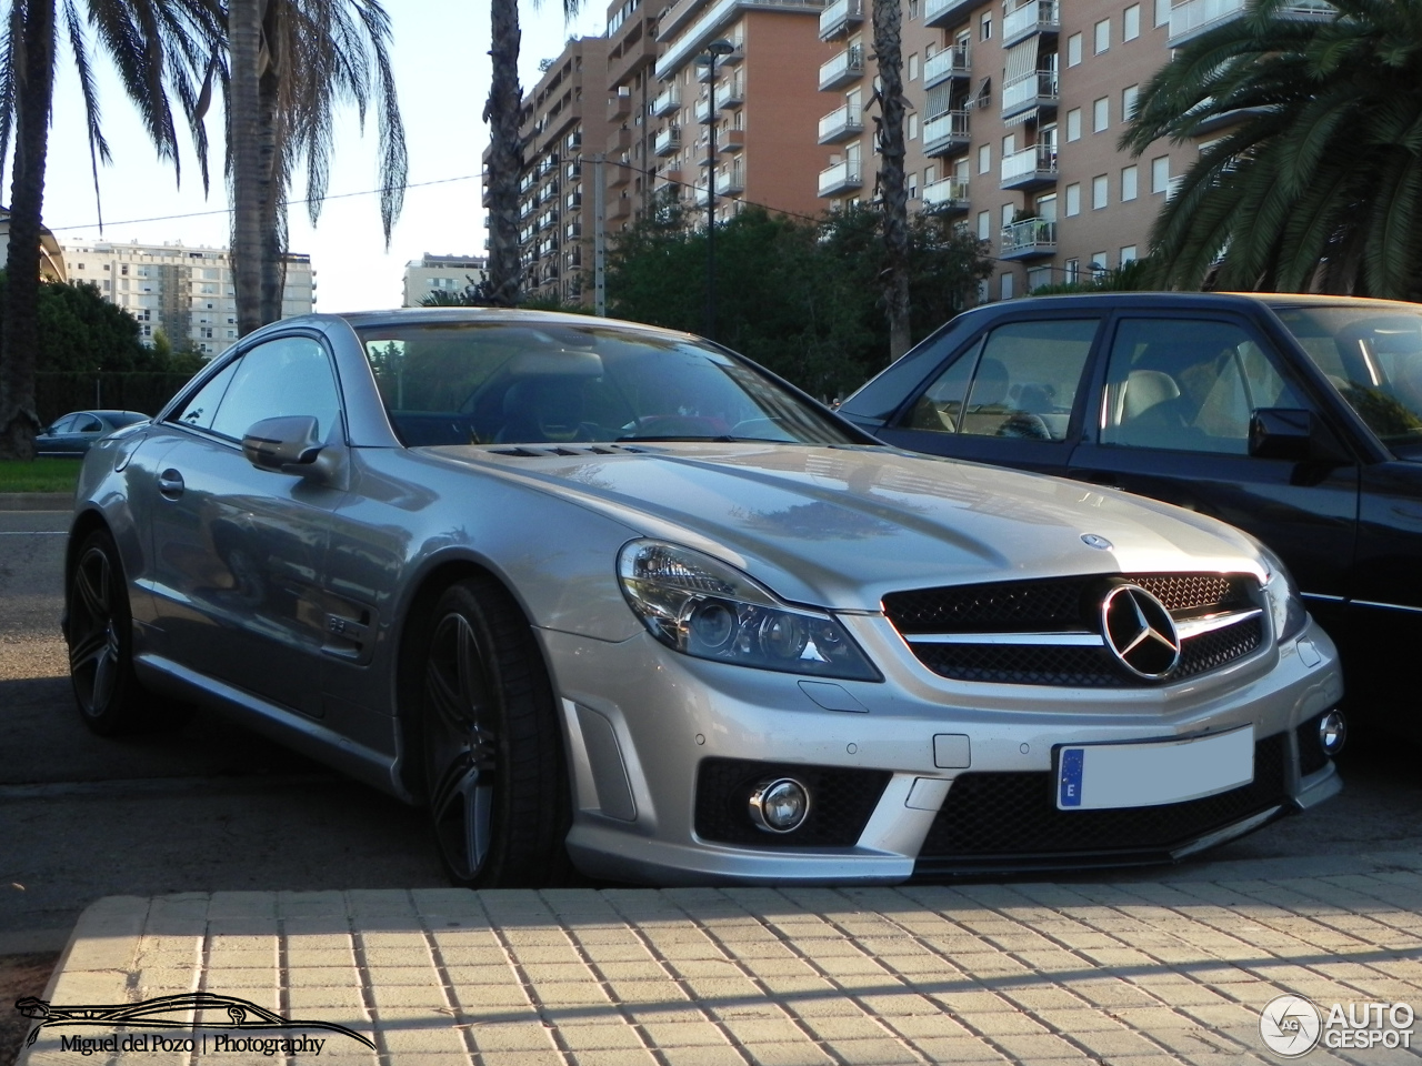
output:
<svg viewBox="0 0 1422 1066"><path fill-rule="evenodd" d="M607 38L582 37L567 43L523 98L519 249L526 297L592 301L592 155L607 141L606 92Z"/></svg>

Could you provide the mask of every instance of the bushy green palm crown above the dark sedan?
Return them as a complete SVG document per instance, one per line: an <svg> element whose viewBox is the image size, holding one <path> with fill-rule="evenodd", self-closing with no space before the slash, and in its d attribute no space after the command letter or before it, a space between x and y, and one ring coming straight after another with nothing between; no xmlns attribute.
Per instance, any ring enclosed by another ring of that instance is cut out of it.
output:
<svg viewBox="0 0 1422 1066"><path fill-rule="evenodd" d="M1158 284L1422 298L1422 0L1285 0L1177 50L1122 138L1227 125L1152 232Z"/></svg>

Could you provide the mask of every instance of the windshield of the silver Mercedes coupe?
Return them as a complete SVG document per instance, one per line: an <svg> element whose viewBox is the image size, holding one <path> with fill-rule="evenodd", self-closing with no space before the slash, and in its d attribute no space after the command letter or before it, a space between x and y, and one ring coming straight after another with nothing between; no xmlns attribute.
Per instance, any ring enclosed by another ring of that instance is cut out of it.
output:
<svg viewBox="0 0 1422 1066"><path fill-rule="evenodd" d="M859 443L725 352L606 324L419 323L357 333L407 445Z"/></svg>

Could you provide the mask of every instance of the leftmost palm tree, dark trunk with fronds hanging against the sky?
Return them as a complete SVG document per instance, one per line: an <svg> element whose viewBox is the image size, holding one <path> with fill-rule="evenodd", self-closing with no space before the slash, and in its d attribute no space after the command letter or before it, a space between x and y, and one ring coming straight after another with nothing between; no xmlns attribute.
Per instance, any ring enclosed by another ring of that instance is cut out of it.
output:
<svg viewBox="0 0 1422 1066"><path fill-rule="evenodd" d="M9 0L0 37L0 173L10 138L14 138L6 259L10 283L0 334L0 458L4 459L33 459L34 434L40 425L34 405L40 220L61 18L63 37L73 53L84 95L95 195L98 163L109 161L100 129L94 47L81 14L94 27L98 48L118 68L158 155L171 159L175 168L178 136L168 94L173 92L189 115L196 111L193 41L205 38L213 24L212 9L202 0ZM199 161L205 163L206 144L201 129L195 136Z"/></svg>

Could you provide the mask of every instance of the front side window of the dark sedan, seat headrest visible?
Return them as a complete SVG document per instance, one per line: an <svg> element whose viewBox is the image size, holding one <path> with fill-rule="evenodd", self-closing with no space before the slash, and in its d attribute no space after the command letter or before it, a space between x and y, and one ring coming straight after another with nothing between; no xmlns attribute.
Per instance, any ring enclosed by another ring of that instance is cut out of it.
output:
<svg viewBox="0 0 1422 1066"><path fill-rule="evenodd" d="M1101 442L1128 448L1247 455L1256 409L1307 407L1273 357L1231 323L1126 320L1106 375Z"/></svg>

